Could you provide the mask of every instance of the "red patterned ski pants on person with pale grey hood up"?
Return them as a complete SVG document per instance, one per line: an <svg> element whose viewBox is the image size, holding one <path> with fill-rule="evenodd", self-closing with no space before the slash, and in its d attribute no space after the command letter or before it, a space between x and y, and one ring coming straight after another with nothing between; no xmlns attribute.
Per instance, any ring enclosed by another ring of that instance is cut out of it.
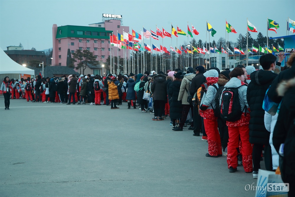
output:
<svg viewBox="0 0 295 197"><path fill-rule="evenodd" d="M208 136L208 151L211 156L222 154L220 135L217 120L204 118L204 127Z"/></svg>

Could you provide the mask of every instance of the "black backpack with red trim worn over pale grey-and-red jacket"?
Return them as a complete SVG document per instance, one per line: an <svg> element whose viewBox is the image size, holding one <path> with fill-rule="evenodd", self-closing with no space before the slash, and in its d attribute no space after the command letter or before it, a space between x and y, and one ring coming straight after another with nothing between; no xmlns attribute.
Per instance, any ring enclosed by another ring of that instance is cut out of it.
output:
<svg viewBox="0 0 295 197"><path fill-rule="evenodd" d="M241 111L238 88L225 88L221 95L220 117L234 122L241 118L244 109Z"/></svg>

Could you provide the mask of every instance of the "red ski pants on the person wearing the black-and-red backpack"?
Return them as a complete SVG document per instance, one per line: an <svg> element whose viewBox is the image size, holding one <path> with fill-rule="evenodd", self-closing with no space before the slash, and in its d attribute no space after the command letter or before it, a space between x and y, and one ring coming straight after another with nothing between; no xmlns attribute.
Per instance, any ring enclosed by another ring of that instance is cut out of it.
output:
<svg viewBox="0 0 295 197"><path fill-rule="evenodd" d="M206 131L207 133L207 131ZM242 161L245 172L253 171L252 163L252 145L249 142L249 125L228 127L228 143L227 143L227 165L228 168L237 168L239 138L242 143Z"/></svg>

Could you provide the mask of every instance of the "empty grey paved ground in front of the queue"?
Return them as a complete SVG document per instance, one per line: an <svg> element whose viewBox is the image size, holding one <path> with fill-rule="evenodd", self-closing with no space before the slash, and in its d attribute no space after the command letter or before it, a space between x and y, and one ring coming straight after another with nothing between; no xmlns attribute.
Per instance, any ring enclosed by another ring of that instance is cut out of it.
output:
<svg viewBox="0 0 295 197"><path fill-rule="evenodd" d="M139 109L0 98L0 196L254 196L242 166ZM261 162L263 164L263 162Z"/></svg>

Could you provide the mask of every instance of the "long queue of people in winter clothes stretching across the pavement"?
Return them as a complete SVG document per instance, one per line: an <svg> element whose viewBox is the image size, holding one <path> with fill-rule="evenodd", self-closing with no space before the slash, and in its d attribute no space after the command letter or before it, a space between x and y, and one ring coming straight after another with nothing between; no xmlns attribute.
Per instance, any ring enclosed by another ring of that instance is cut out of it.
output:
<svg viewBox="0 0 295 197"><path fill-rule="evenodd" d="M283 54L278 62L272 54L263 55L260 70L238 65L206 71L198 66L195 70L186 67L185 72L176 69L105 77L37 75L20 81L5 77L1 93L5 110L9 110L10 98L68 105L103 103L111 109L119 109L122 102L127 102L127 109L139 106L142 113L153 114L153 121L169 117L173 131L188 127L193 136L202 134L201 140L208 142L204 156L227 155L231 173L237 171L240 161L244 171L257 179L263 157L267 170L280 166L283 180L290 184L289 196L295 196L294 57L295 53L291 54L287 66L280 67Z"/></svg>

